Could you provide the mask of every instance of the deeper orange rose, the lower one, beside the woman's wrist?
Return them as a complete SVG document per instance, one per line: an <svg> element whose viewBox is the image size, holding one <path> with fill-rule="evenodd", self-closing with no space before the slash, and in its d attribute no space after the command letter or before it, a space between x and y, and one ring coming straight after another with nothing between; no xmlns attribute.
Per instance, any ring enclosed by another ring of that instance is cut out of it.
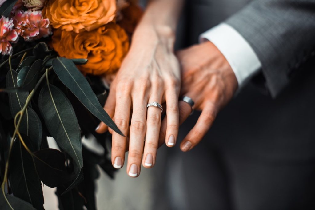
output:
<svg viewBox="0 0 315 210"><path fill-rule="evenodd" d="M126 32L117 24L109 23L94 31L74 33L56 30L52 46L61 57L88 59L78 68L85 74L102 75L117 71L129 49Z"/></svg>

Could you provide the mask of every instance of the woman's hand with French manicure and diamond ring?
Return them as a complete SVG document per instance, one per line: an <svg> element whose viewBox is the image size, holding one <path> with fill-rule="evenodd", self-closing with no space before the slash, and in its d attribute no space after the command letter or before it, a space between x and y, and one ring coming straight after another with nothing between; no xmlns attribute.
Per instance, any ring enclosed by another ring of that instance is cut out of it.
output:
<svg viewBox="0 0 315 210"><path fill-rule="evenodd" d="M156 160L161 110L157 107L147 108L148 103L166 102L167 107L163 108L168 116L168 126L164 138L168 139L169 146L175 145L177 139L180 69L173 53L174 37L174 32L169 27L152 24L139 26L129 53L112 82L104 107L123 134L129 135L127 173L131 177L139 176L142 153L144 167L154 166ZM101 123L97 132L102 133L106 129L107 126ZM114 132L114 167L123 166L127 146L127 137Z"/></svg>

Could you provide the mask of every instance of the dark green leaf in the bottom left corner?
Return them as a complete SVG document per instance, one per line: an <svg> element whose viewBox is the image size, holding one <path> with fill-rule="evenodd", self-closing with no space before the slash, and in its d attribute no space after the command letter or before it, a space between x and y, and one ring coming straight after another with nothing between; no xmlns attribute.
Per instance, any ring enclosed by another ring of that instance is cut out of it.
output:
<svg viewBox="0 0 315 210"><path fill-rule="evenodd" d="M36 208L32 207L30 203L25 202L21 200L20 198L17 198L8 194L6 194L5 196L14 210L36 210ZM11 207L9 206L8 202L5 200L2 191L0 191L0 209L12 210Z"/></svg>

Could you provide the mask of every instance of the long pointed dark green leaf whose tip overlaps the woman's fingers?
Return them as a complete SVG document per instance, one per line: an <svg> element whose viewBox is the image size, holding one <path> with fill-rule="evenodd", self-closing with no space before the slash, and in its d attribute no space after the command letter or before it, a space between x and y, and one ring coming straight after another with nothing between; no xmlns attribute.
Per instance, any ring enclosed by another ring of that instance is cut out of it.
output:
<svg viewBox="0 0 315 210"><path fill-rule="evenodd" d="M66 58L56 58L53 60L52 66L61 82L72 91L72 93L93 115L103 121L115 132L123 135L112 121L111 117L104 111L89 83L71 60Z"/></svg>

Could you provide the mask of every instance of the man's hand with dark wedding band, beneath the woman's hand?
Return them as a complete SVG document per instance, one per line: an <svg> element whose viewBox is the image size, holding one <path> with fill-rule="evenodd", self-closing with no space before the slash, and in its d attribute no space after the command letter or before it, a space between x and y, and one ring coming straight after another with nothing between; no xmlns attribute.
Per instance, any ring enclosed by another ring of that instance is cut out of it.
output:
<svg viewBox="0 0 315 210"><path fill-rule="evenodd" d="M193 109L202 111L196 125L180 144L182 151L189 151L208 132L218 111L232 99L238 82L226 58L209 41L181 50L177 56L182 71L180 95L190 97L195 102ZM191 111L190 105L179 102L180 124ZM160 144L164 142L166 128L167 119L164 119Z"/></svg>

